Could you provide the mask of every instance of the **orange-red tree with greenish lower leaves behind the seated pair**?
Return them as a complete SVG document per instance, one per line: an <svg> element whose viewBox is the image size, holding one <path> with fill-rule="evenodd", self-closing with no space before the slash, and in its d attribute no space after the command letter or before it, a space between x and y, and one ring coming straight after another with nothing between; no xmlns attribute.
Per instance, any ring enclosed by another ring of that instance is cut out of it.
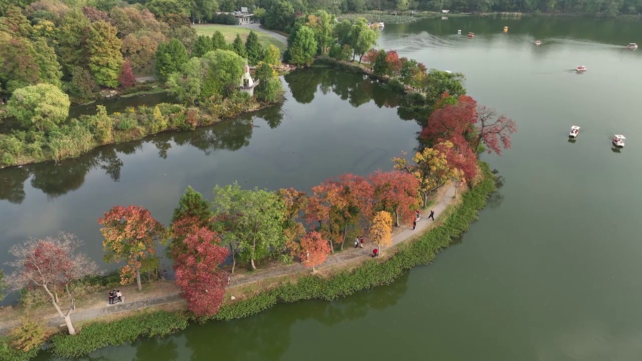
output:
<svg viewBox="0 0 642 361"><path fill-rule="evenodd" d="M125 261L121 269L121 283L125 285L136 279L141 285L141 269L150 270L158 264L155 241L165 239L165 229L152 217L150 211L139 206L116 206L98 218L103 227L105 261Z"/></svg>

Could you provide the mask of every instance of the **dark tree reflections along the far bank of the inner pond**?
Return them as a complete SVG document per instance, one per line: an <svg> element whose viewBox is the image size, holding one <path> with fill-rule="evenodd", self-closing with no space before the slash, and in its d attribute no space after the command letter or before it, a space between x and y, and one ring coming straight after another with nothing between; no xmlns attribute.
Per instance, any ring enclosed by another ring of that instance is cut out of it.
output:
<svg viewBox="0 0 642 361"><path fill-rule="evenodd" d="M397 113L403 119L414 119L421 113L421 106L408 101L402 92L385 89L369 76L320 68L295 71L284 79L292 97L299 103L310 103L320 90L324 94L333 92L352 107L360 107L370 101L379 108L398 107ZM45 193L49 199L60 197L80 188L87 174L97 168L105 170L112 180L118 182L123 167L120 155L133 155L147 144L154 145L162 159L166 159L173 148L178 148L173 145L191 145L206 155L216 150L239 150L250 144L256 127L255 119L265 120L268 127L274 129L281 125L284 112L281 106L270 107L191 132L158 134L139 141L101 146L76 159L6 168L0 170L0 200L21 204L26 197L24 182L28 179L31 179L33 188Z"/></svg>

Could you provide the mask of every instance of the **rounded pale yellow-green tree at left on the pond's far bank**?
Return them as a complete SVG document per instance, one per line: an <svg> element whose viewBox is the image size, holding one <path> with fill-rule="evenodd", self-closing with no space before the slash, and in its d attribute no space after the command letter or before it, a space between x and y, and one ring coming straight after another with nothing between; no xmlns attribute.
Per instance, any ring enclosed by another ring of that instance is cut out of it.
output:
<svg viewBox="0 0 642 361"><path fill-rule="evenodd" d="M9 114L31 129L48 132L69 116L69 96L51 84L29 85L13 92Z"/></svg>

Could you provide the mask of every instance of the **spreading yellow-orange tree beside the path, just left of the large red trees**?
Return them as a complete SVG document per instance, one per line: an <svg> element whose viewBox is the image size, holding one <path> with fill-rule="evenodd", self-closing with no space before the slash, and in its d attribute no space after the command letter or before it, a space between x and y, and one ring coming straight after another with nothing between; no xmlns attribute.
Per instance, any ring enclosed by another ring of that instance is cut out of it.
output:
<svg viewBox="0 0 642 361"><path fill-rule="evenodd" d="M441 143L447 149L453 148L453 143ZM428 206L428 196L441 186L449 184L452 179L460 179L462 171L453 167L445 152L440 152L435 148L425 148L422 152L417 152L412 158L415 164L409 164L405 158L406 152L399 158L393 158L395 169L411 173L419 179L419 191L424 200L424 207Z"/></svg>

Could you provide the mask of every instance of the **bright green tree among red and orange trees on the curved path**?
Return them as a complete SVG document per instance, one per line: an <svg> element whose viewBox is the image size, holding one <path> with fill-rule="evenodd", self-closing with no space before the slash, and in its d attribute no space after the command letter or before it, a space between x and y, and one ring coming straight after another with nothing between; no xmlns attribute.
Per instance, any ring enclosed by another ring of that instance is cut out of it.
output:
<svg viewBox="0 0 642 361"><path fill-rule="evenodd" d="M241 189L237 182L216 186L213 207L216 215L227 220L223 242L230 247L232 272L237 258L249 261L256 270L255 261L284 248L286 208L275 193L258 188Z"/></svg>

